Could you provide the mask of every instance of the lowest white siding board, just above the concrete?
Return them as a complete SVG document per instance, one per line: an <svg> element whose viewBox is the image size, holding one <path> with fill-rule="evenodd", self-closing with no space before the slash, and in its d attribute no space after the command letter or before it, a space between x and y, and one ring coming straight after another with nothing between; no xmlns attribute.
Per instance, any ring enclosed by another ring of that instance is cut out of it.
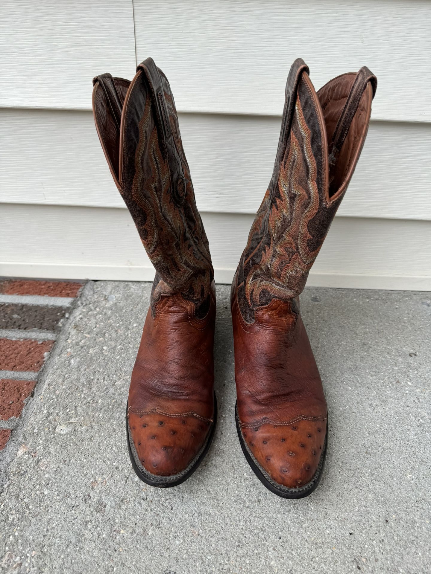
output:
<svg viewBox="0 0 431 574"><path fill-rule="evenodd" d="M202 219L216 278L229 282L252 216L203 214ZM337 218L310 280L332 286L431 289L430 261L430 222ZM125 210L0 205L0 275L35 273L93 279L153 277Z"/></svg>

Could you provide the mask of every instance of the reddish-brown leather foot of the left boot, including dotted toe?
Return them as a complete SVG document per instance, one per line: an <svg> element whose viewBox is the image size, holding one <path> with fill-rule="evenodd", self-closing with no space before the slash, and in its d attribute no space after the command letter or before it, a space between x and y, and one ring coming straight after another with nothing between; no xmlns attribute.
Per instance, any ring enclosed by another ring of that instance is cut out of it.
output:
<svg viewBox="0 0 431 574"><path fill-rule="evenodd" d="M145 320L129 390L129 426L140 463L177 474L205 443L214 416L216 295L204 319L180 294L162 296Z"/></svg>

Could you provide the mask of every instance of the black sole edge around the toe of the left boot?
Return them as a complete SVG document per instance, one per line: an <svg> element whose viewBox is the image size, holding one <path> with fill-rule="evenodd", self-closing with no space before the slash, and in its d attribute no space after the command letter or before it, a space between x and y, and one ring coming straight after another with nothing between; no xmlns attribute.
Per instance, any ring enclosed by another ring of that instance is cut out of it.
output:
<svg viewBox="0 0 431 574"><path fill-rule="evenodd" d="M172 486L178 486L187 480L194 471L198 468L199 464L201 464L202 460L205 458L206 453L209 451L211 443L213 442L214 433L216 431L217 426L217 397L216 393L214 393L214 416L213 416L213 424L210 427L209 433L206 437L205 443L201 447L201 450L197 453L191 463L184 468L183 471L179 472L178 474L171 475L171 476L157 476L148 472L146 468L144 468L136 453L136 448L134 448L133 440L130 440L131 432L129 427L129 421L127 417L127 411L129 407L129 401L127 402L126 406L126 435L127 435L127 446L129 450L130 461L132 461L132 467L134 472L136 472L138 478L140 478L149 486L156 486L159 488L170 488Z"/></svg>

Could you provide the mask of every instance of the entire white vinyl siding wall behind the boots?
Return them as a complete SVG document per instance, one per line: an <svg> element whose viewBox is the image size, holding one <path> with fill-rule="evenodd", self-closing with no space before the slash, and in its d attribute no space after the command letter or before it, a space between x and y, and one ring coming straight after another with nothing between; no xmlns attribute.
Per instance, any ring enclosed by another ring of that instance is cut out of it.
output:
<svg viewBox="0 0 431 574"><path fill-rule="evenodd" d="M368 65L372 121L311 285L431 289L431 1L3 1L0 275L151 280L91 114L91 80L152 56L179 114L216 280L271 177L290 64ZM136 49L136 53L135 53Z"/></svg>

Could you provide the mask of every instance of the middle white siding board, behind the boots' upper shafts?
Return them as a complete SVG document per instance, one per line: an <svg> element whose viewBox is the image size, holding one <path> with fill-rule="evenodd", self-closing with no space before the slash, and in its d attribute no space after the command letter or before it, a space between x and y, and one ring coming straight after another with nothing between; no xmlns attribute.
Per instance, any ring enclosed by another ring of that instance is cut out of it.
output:
<svg viewBox="0 0 431 574"><path fill-rule="evenodd" d="M280 120L180 114L201 211L254 214L270 181ZM125 205L89 112L0 110L0 201ZM431 125L371 122L339 211L343 216L431 219Z"/></svg>

